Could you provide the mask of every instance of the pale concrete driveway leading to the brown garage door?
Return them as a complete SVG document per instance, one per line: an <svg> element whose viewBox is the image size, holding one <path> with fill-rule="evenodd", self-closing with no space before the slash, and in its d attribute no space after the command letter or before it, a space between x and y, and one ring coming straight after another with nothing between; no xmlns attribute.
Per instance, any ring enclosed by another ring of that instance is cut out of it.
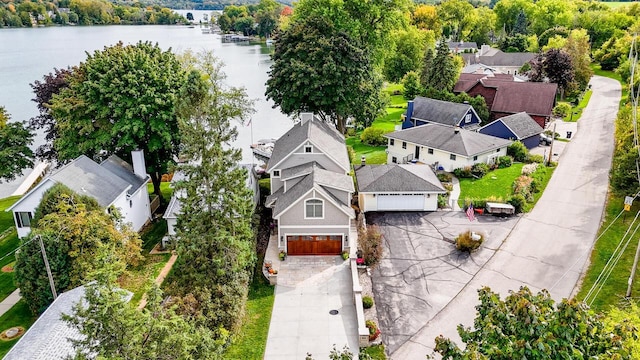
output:
<svg viewBox="0 0 640 360"><path fill-rule="evenodd" d="M340 256L289 256L279 265L264 358L300 360L309 353L327 359L334 344L357 354L349 262Z"/></svg>

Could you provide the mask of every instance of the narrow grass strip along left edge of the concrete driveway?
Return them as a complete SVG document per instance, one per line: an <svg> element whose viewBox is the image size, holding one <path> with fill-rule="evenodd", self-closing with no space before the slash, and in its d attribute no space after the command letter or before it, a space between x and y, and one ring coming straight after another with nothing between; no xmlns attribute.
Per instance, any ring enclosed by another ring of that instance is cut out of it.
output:
<svg viewBox="0 0 640 360"><path fill-rule="evenodd" d="M275 288L267 283L262 274L254 275L242 330L227 349L225 359L262 359L267 346L274 291Z"/></svg>

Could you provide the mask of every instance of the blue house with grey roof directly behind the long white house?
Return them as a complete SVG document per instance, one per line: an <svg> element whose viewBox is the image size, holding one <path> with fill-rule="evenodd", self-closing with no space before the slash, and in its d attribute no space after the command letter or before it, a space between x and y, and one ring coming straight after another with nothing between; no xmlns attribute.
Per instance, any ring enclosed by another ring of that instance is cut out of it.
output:
<svg viewBox="0 0 640 360"><path fill-rule="evenodd" d="M467 130L480 127L480 117L469 104L453 103L418 96L407 103L402 128L407 129L429 123L459 126Z"/></svg>

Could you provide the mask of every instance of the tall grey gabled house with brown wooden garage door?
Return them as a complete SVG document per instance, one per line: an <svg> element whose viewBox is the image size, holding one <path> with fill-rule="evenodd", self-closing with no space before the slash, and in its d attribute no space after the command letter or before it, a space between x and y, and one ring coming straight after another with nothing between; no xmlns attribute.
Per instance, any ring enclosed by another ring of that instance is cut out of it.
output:
<svg viewBox="0 0 640 360"><path fill-rule="evenodd" d="M355 191L344 137L312 114L274 145L267 173L278 248L289 255L336 255L349 250Z"/></svg>

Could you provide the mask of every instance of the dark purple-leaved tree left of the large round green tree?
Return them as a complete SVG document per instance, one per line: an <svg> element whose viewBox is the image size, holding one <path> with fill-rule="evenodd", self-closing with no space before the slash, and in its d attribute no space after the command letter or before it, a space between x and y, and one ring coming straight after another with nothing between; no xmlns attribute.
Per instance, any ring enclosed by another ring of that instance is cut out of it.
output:
<svg viewBox="0 0 640 360"><path fill-rule="evenodd" d="M53 147L53 141L58 137L56 121L51 115L51 99L53 95L67 87L66 78L72 73L71 68L53 69L52 73L45 75L43 81L36 80L31 85L36 97L31 99L38 104L37 116L29 119L29 128L32 130L44 130L44 144L36 149L36 156L44 161L54 161L58 153Z"/></svg>

